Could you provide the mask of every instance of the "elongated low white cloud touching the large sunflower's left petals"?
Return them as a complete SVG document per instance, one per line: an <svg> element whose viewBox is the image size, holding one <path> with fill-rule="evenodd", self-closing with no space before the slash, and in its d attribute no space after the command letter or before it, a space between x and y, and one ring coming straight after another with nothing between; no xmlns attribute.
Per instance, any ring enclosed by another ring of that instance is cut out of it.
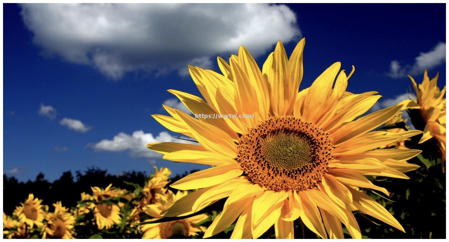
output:
<svg viewBox="0 0 449 242"><path fill-rule="evenodd" d="M156 153L146 147L149 143L154 142L178 142L187 143L174 138L168 132L160 132L154 137L152 133L145 133L142 130L134 131L132 135L120 132L112 140L102 140L96 144L89 146L96 151L123 151L130 150L132 158L159 158L162 154ZM190 143L190 142L189 142Z"/></svg>

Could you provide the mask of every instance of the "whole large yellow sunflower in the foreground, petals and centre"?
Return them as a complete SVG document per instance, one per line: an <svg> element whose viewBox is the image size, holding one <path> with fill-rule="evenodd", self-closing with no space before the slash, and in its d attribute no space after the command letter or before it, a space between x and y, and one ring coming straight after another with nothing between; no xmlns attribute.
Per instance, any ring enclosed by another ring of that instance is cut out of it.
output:
<svg viewBox="0 0 449 242"><path fill-rule="evenodd" d="M421 132L370 132L398 114L401 106L356 119L380 96L345 92L349 77L339 71L339 62L298 92L303 48L304 39L287 58L279 41L262 71L243 46L230 64L218 58L223 75L189 66L206 101L168 90L194 114L254 114L254 118L195 119L167 106L171 117L154 115L166 128L199 145L164 142L148 148L164 154L164 159L213 166L172 184L176 189L199 190L180 198L163 216L190 215L228 197L205 238L235 220L231 238L258 238L273 224L276 238L294 238L293 221L298 218L322 238L343 238L341 223L353 238L361 238L352 215L355 210L404 231L384 207L354 187L388 195L364 175L407 179L403 172L418 166L403 161L420 150L373 149Z"/></svg>

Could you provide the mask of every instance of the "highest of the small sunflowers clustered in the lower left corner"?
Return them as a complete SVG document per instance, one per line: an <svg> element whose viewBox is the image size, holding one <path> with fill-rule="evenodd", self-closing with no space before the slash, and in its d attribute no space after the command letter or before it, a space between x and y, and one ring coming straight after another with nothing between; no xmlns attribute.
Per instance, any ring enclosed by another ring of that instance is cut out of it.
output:
<svg viewBox="0 0 449 242"><path fill-rule="evenodd" d="M45 207L41 205L41 202L42 200L34 198L34 194L29 194L25 202L21 202L21 206L16 207L13 215L17 216L20 222L27 224L31 228L34 225L40 228L44 225L42 220L45 217Z"/></svg>

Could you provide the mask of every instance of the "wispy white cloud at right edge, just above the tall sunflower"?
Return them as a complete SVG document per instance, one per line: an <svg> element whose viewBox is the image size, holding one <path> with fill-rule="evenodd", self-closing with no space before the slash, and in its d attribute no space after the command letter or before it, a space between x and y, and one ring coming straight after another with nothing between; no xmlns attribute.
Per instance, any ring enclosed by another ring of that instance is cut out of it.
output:
<svg viewBox="0 0 449 242"><path fill-rule="evenodd" d="M400 62L394 60L390 63L388 76L392 78L402 78L406 75L422 75L424 70L430 70L446 62L446 43L438 43L431 51L420 53L415 58L415 63L410 66L401 66Z"/></svg>

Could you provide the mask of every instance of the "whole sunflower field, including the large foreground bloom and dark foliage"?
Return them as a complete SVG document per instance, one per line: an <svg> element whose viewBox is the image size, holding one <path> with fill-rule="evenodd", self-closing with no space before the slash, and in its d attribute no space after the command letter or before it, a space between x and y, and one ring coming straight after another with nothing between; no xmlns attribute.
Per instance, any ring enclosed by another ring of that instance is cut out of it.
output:
<svg viewBox="0 0 449 242"><path fill-rule="evenodd" d="M241 46L218 57L221 74L189 66L202 97L168 90L193 114L236 114L197 119L163 105L169 115L153 115L183 138L150 150L210 168L171 177L154 167L92 184L71 204L24 191L3 214L4 238L445 238L438 75L410 77L409 99L365 114L380 95L346 91L354 67L335 62L300 87L304 45L287 57L279 41L262 68Z"/></svg>

